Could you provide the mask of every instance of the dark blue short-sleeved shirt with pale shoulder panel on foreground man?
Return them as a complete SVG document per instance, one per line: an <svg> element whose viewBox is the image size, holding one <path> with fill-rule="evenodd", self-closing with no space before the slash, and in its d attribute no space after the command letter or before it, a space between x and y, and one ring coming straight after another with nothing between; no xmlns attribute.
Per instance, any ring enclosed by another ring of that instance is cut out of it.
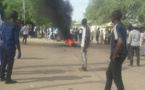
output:
<svg viewBox="0 0 145 90"><path fill-rule="evenodd" d="M113 57L113 54L114 54L115 49L116 49L118 38L122 38L122 40L123 40L123 46L122 46L120 52L118 53L118 55L119 55L119 57L126 57L127 56L126 28L121 22L118 22L114 25L111 38L112 38L112 41L111 41L110 58L112 59L112 57Z"/></svg>

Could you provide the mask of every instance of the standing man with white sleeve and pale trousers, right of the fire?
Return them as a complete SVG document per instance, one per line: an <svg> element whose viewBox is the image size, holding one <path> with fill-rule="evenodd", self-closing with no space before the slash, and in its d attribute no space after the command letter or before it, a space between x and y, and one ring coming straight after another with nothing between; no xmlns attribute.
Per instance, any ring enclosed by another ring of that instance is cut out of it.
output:
<svg viewBox="0 0 145 90"><path fill-rule="evenodd" d="M87 19L82 20L82 26L84 26L82 34L82 43L81 43L81 56L82 56L82 67L80 71L87 71L87 49L90 45L90 28L87 26Z"/></svg>

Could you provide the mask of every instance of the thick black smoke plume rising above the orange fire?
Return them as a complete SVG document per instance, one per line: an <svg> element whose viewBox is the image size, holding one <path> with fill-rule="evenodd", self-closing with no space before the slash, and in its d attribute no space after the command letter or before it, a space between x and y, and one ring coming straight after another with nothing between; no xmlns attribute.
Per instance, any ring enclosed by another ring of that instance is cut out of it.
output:
<svg viewBox="0 0 145 90"><path fill-rule="evenodd" d="M73 11L69 1L64 0L43 0L43 14L47 16L60 35L66 39L72 39L70 34L71 14Z"/></svg>

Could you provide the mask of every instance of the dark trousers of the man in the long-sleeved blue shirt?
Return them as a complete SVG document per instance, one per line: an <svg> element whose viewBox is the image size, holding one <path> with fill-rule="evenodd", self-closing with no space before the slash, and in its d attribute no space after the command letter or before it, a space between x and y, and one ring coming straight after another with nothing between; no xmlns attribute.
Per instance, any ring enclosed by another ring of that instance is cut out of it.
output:
<svg viewBox="0 0 145 90"><path fill-rule="evenodd" d="M15 51L8 52L5 49L2 48L2 72L1 72L1 78L5 78L5 70L7 66L7 75L6 80L11 80L12 75L12 69L14 64L14 57L15 57Z"/></svg>

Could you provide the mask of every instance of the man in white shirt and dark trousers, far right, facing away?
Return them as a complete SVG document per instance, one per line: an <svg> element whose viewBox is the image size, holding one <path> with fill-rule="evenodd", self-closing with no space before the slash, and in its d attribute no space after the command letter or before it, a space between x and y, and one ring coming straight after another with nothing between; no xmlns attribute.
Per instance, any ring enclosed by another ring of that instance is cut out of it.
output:
<svg viewBox="0 0 145 90"><path fill-rule="evenodd" d="M137 56L137 66L140 64L140 54L139 54L139 47L140 47L140 32L138 31L138 26L133 24L133 30L129 32L128 37L128 44L130 44L130 64L129 66L133 66L133 53L135 51Z"/></svg>

